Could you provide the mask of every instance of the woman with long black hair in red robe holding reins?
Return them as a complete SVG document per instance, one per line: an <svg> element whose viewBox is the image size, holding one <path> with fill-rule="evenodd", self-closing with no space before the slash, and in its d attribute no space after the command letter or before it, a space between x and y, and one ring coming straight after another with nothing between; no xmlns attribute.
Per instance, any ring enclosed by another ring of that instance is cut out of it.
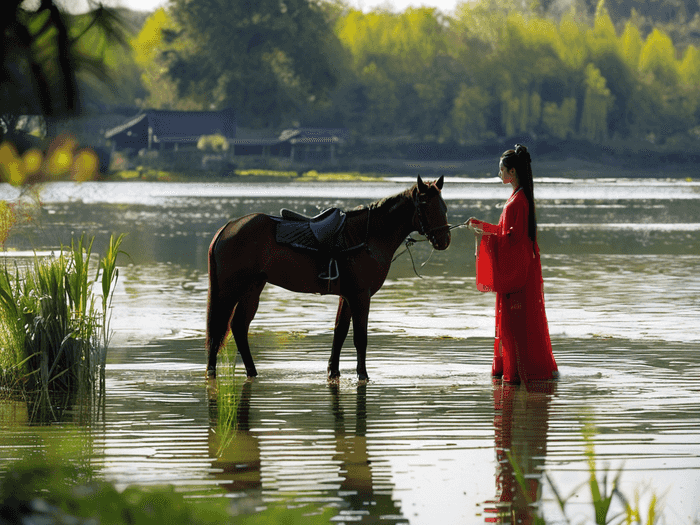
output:
<svg viewBox="0 0 700 525"><path fill-rule="evenodd" d="M497 225L469 219L479 240L477 287L496 292L496 341L492 374L519 383L558 376L552 355L530 153L516 144L501 156L499 177L513 186Z"/></svg>

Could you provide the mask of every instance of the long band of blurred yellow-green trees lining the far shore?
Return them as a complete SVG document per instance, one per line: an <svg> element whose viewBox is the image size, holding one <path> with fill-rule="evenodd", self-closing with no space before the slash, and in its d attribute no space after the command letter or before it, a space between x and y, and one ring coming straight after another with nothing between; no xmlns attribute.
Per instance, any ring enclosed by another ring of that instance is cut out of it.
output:
<svg viewBox="0 0 700 525"><path fill-rule="evenodd" d="M689 1L470 0L454 16L221 1L173 0L132 42L153 106L460 143L697 135L700 52L674 41L673 20L700 28Z"/></svg>

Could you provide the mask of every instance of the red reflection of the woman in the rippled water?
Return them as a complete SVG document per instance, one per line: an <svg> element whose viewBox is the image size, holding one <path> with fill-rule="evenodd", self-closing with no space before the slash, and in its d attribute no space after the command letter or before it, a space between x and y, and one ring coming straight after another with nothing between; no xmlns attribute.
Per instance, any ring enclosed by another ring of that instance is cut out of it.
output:
<svg viewBox="0 0 700 525"><path fill-rule="evenodd" d="M553 382L525 386L494 381L496 497L486 502L486 523L535 523L547 456L549 405L555 389ZM516 479L507 451L525 478L525 490Z"/></svg>

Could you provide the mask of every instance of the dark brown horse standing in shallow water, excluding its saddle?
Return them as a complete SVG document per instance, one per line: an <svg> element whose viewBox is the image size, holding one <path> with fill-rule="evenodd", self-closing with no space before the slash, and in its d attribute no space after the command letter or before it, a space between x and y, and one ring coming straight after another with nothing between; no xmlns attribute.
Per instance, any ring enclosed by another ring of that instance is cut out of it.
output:
<svg viewBox="0 0 700 525"><path fill-rule="evenodd" d="M257 376L248 344L248 328L266 283L293 292L339 296L328 379L340 377L340 351L353 326L357 376L369 380L366 367L370 300L382 287L394 253L411 232L425 236L436 250L450 244L444 177L417 182L407 190L346 212L344 236L351 246L328 260L276 239L279 217L252 213L229 221L214 235L208 252L207 375L216 376L216 361L229 330L248 378ZM333 273L333 276L325 272Z"/></svg>

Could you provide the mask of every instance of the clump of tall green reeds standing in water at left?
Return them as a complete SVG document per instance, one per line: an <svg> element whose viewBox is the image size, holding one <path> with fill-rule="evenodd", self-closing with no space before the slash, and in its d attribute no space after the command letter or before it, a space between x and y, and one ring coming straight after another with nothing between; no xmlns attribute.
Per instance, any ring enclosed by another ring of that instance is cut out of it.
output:
<svg viewBox="0 0 700 525"><path fill-rule="evenodd" d="M56 409L65 408L60 405L93 392L103 374L122 239L110 239L94 280L94 238L84 236L56 256L35 255L27 268L0 269L1 386L27 396L33 420L54 418ZM98 307L93 285L100 277Z"/></svg>

